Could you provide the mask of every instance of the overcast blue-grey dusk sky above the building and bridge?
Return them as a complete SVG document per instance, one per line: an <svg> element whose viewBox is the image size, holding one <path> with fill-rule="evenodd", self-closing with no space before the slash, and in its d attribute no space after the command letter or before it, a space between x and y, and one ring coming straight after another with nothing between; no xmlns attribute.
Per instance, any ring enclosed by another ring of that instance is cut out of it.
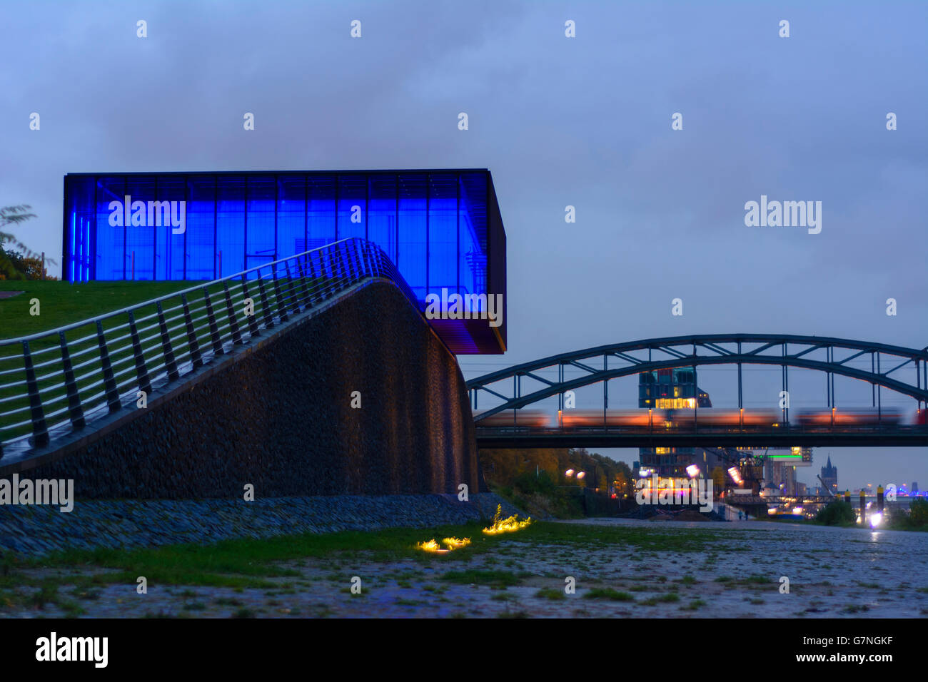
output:
<svg viewBox="0 0 928 682"><path fill-rule="evenodd" d="M60 261L68 172L485 167L509 239L509 352L461 357L468 378L690 333L923 348L928 3L809 5L4 2L0 205L31 204L20 238ZM821 201L821 232L746 226L761 195ZM700 371L715 405L737 405L732 377ZM800 400L824 405L813 380ZM635 405L623 386L614 400ZM835 388L870 404L868 387ZM842 487L928 487L926 456L831 450Z"/></svg>

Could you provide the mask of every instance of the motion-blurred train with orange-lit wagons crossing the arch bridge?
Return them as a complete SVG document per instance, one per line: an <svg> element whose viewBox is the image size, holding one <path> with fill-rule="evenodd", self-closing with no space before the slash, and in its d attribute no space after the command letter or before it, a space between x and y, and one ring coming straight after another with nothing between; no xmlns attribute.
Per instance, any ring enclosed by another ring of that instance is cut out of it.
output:
<svg viewBox="0 0 928 682"><path fill-rule="evenodd" d="M551 415L540 409L503 410L479 418L486 410L473 413L478 426L530 427L534 429L618 426L638 429L685 428L694 420L700 427L719 429L767 430L783 428L782 413L774 409L725 409L707 407L693 409L568 409ZM916 412L909 424L924 426L928 410ZM907 424L902 410L895 407L823 408L791 410L791 426L805 431L864 426L900 426Z"/></svg>

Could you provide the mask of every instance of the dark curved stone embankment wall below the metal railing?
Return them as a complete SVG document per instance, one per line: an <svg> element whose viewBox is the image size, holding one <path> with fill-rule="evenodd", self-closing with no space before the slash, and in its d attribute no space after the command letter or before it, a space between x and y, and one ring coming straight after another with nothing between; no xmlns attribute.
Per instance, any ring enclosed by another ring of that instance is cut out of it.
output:
<svg viewBox="0 0 928 682"><path fill-rule="evenodd" d="M78 499L483 487L455 357L392 284L367 282L258 341L19 477L73 479Z"/></svg>

